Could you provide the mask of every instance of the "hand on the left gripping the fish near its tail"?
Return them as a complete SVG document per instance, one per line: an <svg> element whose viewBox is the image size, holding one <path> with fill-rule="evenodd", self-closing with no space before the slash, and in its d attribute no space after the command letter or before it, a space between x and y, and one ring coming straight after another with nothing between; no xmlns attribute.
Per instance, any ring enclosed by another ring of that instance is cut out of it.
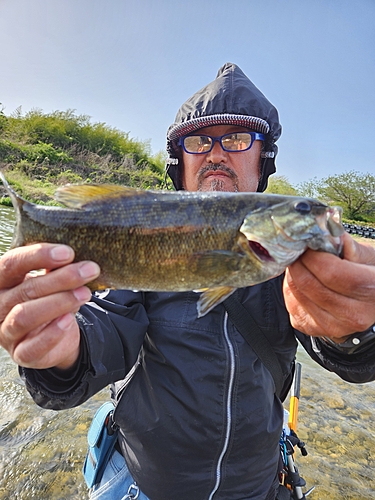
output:
<svg viewBox="0 0 375 500"><path fill-rule="evenodd" d="M79 307L90 300L84 285L96 278L94 262L72 263L65 245L16 248L0 258L0 345L26 368L65 369L79 356ZM32 277L32 270L45 269Z"/></svg>

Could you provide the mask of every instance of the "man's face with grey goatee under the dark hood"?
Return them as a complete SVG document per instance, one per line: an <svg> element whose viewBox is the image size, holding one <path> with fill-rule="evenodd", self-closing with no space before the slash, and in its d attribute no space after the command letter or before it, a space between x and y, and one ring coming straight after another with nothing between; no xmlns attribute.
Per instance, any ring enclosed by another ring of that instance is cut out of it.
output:
<svg viewBox="0 0 375 500"><path fill-rule="evenodd" d="M248 131L232 125L200 129L195 135L219 137L231 132ZM186 191L256 191L260 175L261 141L254 141L247 151L229 153L219 142L208 153L182 151L182 183Z"/></svg>

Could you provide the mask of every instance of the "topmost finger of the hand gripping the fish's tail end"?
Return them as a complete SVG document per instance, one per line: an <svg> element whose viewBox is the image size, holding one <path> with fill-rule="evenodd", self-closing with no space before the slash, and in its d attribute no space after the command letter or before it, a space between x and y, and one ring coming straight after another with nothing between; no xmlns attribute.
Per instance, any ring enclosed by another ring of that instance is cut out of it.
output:
<svg viewBox="0 0 375 500"><path fill-rule="evenodd" d="M40 243L9 250L0 258L0 289L22 283L34 269L56 269L72 262L74 251L66 245Z"/></svg>

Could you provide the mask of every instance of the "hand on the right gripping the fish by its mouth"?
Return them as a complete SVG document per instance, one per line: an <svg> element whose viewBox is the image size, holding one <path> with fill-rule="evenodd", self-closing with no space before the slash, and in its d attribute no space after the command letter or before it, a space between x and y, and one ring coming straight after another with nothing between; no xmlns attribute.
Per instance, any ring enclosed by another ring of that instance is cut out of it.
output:
<svg viewBox="0 0 375 500"><path fill-rule="evenodd" d="M375 248L347 233L343 240L343 259L308 250L284 280L293 327L337 343L375 323Z"/></svg>

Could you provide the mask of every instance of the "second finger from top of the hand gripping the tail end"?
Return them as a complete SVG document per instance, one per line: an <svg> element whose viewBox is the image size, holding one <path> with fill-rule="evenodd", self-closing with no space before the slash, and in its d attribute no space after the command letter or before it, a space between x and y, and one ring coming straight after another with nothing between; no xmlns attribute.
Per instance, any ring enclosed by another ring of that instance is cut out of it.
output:
<svg viewBox="0 0 375 500"><path fill-rule="evenodd" d="M99 274L100 268L95 262L84 261L69 264L45 275L27 279L18 286L2 293L0 321L16 304L58 292L73 290L92 281Z"/></svg>

